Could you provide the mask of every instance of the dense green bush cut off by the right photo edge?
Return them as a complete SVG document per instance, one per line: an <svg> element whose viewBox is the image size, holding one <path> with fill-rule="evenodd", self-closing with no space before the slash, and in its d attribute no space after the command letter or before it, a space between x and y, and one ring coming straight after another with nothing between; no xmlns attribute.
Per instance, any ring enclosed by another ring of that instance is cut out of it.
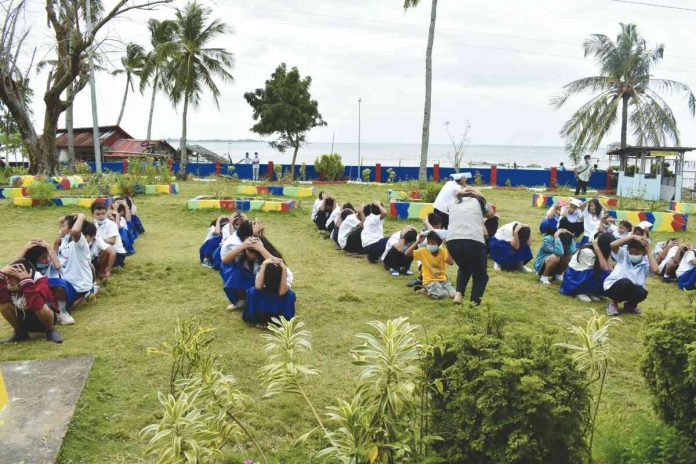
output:
<svg viewBox="0 0 696 464"><path fill-rule="evenodd" d="M687 437L696 436L696 315L655 316L645 334L641 370L657 414Z"/></svg>

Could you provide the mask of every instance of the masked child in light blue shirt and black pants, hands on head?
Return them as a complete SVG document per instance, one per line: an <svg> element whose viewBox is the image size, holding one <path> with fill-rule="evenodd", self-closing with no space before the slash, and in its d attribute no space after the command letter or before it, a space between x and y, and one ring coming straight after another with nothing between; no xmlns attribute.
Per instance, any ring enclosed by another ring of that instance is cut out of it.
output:
<svg viewBox="0 0 696 464"><path fill-rule="evenodd" d="M625 245L625 246L624 246ZM640 314L638 303L648 297L645 281L648 274L657 274L659 268L646 237L633 235L611 244L616 266L604 281L604 291L612 300L607 314L619 314L619 304L625 301L624 311Z"/></svg>

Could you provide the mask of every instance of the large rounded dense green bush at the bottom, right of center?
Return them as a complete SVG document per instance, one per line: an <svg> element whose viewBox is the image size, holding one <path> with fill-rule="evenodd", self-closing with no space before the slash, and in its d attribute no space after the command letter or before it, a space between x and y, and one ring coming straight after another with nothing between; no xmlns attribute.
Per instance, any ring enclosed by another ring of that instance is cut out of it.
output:
<svg viewBox="0 0 696 464"><path fill-rule="evenodd" d="M506 339L494 318L480 319L448 335L428 359L438 386L431 433L443 438L434 445L439 455L467 464L583 462L585 374L550 337Z"/></svg>

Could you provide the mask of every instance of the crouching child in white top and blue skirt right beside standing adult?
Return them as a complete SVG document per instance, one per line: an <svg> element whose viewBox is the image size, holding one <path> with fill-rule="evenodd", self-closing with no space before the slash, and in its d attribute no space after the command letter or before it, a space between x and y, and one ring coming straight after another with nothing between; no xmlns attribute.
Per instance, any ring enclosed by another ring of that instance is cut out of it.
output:
<svg viewBox="0 0 696 464"><path fill-rule="evenodd" d="M532 259L531 229L521 222L510 222L498 229L490 240L493 269L534 272L526 264Z"/></svg>

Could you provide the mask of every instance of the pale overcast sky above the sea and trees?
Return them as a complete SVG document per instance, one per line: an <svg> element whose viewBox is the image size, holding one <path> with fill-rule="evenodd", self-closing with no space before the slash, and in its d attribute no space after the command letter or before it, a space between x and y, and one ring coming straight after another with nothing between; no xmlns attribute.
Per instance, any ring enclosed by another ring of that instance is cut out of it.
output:
<svg viewBox="0 0 696 464"><path fill-rule="evenodd" d="M694 0L645 0L696 8ZM104 0L105 5L113 4ZM357 142L358 99L363 142L420 143L425 93L425 48L431 4L404 11L402 0L204 0L230 32L217 41L234 54L234 81L219 83L219 108L210 95L189 113L189 139L258 138L244 93L262 87L279 63L312 77L311 92L328 125L310 132L312 142ZM129 41L149 47L149 17L174 16L174 7L135 12L114 22L107 38L107 67L119 66ZM561 146L559 129L583 103L561 110L550 105L562 87L598 74L583 58L582 43L594 33L615 38L619 23L636 23L649 46L666 45L655 76L696 90L693 31L696 11L656 8L612 0L439 0L433 51L431 142L446 143L471 123L471 144ZM31 45L45 55L50 36L42 3L33 0ZM34 79L35 120L43 118L45 76ZM100 125L118 117L125 78L97 73ZM75 126L92 123L89 89L75 103ZM144 138L151 89L128 97L121 126ZM158 94L153 138L178 138L181 108ZM668 97L682 145L696 145L696 121L686 101ZM40 126L40 124L38 124ZM62 124L61 124L62 125ZM39 130L40 131L40 130ZM605 142L618 140L614 132Z"/></svg>

